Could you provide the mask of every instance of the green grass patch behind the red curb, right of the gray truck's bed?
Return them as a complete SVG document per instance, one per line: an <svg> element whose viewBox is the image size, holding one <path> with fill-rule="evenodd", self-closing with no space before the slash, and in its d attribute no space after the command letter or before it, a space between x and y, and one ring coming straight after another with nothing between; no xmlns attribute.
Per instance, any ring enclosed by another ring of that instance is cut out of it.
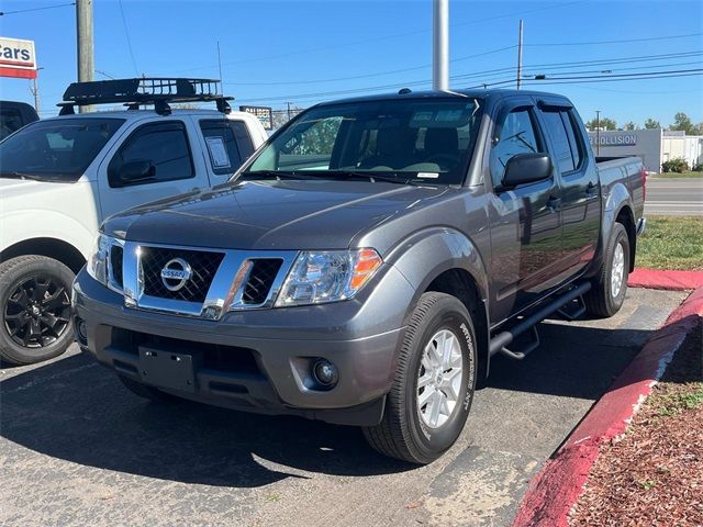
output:
<svg viewBox="0 0 703 527"><path fill-rule="evenodd" d="M637 240L637 267L703 270L703 218L648 216Z"/></svg>

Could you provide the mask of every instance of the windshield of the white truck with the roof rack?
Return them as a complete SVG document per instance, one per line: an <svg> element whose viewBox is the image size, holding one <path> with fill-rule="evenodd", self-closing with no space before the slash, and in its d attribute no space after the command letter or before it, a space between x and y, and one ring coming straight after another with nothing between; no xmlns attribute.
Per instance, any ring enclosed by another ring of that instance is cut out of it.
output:
<svg viewBox="0 0 703 527"><path fill-rule="evenodd" d="M123 119L37 121L0 143L0 177L76 181Z"/></svg>

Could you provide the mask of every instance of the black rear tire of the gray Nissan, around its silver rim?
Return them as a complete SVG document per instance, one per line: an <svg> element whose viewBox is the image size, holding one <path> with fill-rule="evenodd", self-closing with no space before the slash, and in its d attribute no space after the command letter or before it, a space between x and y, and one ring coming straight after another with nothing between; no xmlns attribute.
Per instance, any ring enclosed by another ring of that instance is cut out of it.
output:
<svg viewBox="0 0 703 527"><path fill-rule="evenodd" d="M615 254L617 247L623 250L623 278L622 284L617 294L613 295L612 291L612 277L613 277L613 264L615 260ZM591 289L583 295L585 309L589 314L600 318L607 318L613 316L620 311L625 301L625 294L627 293L627 276L629 274L629 239L627 237L627 231L621 223L613 225L613 232L605 249L603 257L603 264L598 274L591 280Z"/></svg>

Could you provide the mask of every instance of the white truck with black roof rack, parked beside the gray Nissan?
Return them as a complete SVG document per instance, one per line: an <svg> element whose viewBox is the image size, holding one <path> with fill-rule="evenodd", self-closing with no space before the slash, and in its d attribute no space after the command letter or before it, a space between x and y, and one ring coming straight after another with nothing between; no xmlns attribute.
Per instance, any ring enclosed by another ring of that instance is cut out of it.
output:
<svg viewBox="0 0 703 527"><path fill-rule="evenodd" d="M208 82L75 83L63 115L0 142L0 358L31 363L66 350L70 285L105 217L224 183L266 141L261 123L230 111ZM192 101L219 110L168 105ZM131 109L72 114L74 104L104 102Z"/></svg>

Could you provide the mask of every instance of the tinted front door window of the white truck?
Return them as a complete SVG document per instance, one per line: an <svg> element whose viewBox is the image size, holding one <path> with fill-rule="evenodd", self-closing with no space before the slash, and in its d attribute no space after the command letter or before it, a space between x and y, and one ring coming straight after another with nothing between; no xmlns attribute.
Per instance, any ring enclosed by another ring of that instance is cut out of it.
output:
<svg viewBox="0 0 703 527"><path fill-rule="evenodd" d="M149 161L153 168L148 179L130 184L172 181L196 176L186 125L181 121L145 124L134 131L108 166L110 187L116 187L112 182L116 181L121 167L132 161Z"/></svg>

